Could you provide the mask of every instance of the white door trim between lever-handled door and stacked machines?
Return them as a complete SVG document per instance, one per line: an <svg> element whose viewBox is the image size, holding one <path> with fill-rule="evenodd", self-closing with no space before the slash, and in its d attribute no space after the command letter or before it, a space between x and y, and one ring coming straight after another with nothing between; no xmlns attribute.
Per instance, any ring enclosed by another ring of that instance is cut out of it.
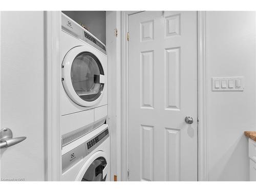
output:
<svg viewBox="0 0 256 192"><path fill-rule="evenodd" d="M61 136L59 130L59 35L61 12L44 12L45 29L45 167L47 181L59 181L61 176Z"/></svg>

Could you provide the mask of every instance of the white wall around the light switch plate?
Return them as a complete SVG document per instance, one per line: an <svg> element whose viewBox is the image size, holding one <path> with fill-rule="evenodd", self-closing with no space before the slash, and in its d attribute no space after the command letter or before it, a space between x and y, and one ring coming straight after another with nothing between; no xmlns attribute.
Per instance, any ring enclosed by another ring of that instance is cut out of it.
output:
<svg viewBox="0 0 256 192"><path fill-rule="evenodd" d="M210 181L248 181L244 131L255 126L255 13L206 12ZM211 77L244 76L243 92L212 92Z"/></svg>

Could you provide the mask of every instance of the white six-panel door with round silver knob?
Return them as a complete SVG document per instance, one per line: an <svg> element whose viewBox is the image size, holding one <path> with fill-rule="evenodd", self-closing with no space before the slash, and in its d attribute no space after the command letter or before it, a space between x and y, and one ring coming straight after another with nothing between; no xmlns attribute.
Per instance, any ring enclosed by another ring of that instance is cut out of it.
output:
<svg viewBox="0 0 256 192"><path fill-rule="evenodd" d="M129 34L129 180L196 181L197 12L133 14Z"/></svg>

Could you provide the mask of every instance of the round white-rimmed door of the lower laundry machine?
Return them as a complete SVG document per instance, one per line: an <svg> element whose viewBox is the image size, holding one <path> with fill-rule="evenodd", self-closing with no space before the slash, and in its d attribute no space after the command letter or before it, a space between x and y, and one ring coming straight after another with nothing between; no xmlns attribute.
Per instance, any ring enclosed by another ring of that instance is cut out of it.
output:
<svg viewBox="0 0 256 192"><path fill-rule="evenodd" d="M93 154L80 169L76 181L106 181L108 159L102 151Z"/></svg>

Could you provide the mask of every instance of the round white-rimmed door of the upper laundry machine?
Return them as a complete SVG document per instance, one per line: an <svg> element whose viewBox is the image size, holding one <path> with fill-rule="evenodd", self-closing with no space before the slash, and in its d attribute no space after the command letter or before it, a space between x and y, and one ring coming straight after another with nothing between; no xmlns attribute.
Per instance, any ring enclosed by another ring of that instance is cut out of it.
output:
<svg viewBox="0 0 256 192"><path fill-rule="evenodd" d="M92 48L71 49L62 62L62 84L68 96L78 105L92 106L104 91L104 70Z"/></svg>

